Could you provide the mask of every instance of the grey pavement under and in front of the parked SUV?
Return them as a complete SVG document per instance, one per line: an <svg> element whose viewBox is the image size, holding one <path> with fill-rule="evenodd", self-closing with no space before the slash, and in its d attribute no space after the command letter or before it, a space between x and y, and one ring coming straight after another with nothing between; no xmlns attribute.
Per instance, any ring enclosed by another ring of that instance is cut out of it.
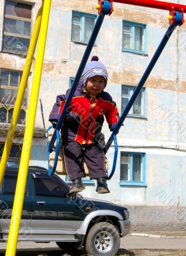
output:
<svg viewBox="0 0 186 256"><path fill-rule="evenodd" d="M186 232L178 234L171 233L169 236L164 234L151 233L131 233L129 236L122 237L120 240L120 253L129 253L129 255L162 255L165 252L182 252L186 255ZM61 250L55 242L34 243L19 242L17 243L17 252L55 252ZM0 243L0 256L6 251L6 243ZM158 254L152 254L157 252ZM134 254L132 254L134 253ZM39 254L40 255L40 254ZM46 255L46 254L45 254ZM124 254L119 254L124 255ZM177 254L176 254L177 255Z"/></svg>

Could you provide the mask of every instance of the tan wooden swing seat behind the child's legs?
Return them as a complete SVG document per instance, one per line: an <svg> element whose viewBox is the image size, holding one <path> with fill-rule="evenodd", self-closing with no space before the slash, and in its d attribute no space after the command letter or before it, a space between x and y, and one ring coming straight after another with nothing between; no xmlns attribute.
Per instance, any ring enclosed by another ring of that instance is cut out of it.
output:
<svg viewBox="0 0 186 256"><path fill-rule="evenodd" d="M48 143L50 143L50 140L52 138L52 134L54 133L54 129L50 129L48 131ZM101 145L104 146L104 134L102 134L101 136ZM56 147L56 141L54 143L54 149ZM50 154L50 157L49 157L49 165L50 165L50 168L52 169L53 166L54 166L54 159L55 159L55 151L53 151L51 154ZM85 176L89 176L89 170L87 168L87 164L85 162L83 162L83 167L85 169ZM106 171L108 171L108 159L105 157L105 168L106 168ZM64 163L64 152L63 152L63 148L62 148L62 138L60 136L60 149L59 149L59 156L58 156L58 160L57 160L57 166L56 166L56 169L55 169L55 173L57 174L60 174L60 175L68 175L68 173L66 172L66 166L65 166L65 163Z"/></svg>

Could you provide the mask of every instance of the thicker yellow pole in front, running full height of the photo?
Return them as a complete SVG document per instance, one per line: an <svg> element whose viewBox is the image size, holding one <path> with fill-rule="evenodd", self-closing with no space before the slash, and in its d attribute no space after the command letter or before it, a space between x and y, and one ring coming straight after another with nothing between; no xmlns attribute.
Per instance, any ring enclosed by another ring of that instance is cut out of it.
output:
<svg viewBox="0 0 186 256"><path fill-rule="evenodd" d="M31 153L32 136L34 132L34 121L36 118L36 108L38 104L39 84L41 81L41 72L45 53L45 44L47 39L48 20L50 15L51 0L45 0L43 6L43 15L41 20L41 29L39 33L38 51L36 64L34 68L34 77L32 81L31 97L25 125L24 143L20 158L20 167L18 170L17 187L10 222L10 231L8 235L8 244L6 256L14 256L17 248L18 232L20 227L20 218L22 214L22 205L24 202L25 184L27 181L27 172L29 166L29 157Z"/></svg>

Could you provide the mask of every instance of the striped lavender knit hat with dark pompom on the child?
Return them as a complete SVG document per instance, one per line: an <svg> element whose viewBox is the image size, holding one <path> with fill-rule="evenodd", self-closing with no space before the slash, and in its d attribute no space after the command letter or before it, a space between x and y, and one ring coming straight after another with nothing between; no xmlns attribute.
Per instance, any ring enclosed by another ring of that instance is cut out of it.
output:
<svg viewBox="0 0 186 256"><path fill-rule="evenodd" d="M106 71L106 67L101 61L99 61L99 58L97 56L93 56L91 61L87 63L87 65L85 66L85 69L83 70L83 73L82 73L83 85L85 86L87 83L87 80L93 76L102 76L104 78L105 86L106 86L108 73Z"/></svg>

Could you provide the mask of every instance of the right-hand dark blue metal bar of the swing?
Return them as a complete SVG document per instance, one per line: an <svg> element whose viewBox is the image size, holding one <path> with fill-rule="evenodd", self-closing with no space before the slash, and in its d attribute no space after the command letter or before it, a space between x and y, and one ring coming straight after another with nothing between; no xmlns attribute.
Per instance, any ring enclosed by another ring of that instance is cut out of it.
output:
<svg viewBox="0 0 186 256"><path fill-rule="evenodd" d="M130 109L132 108L132 105L134 104L134 101L136 100L136 98L138 97L138 94L140 93L141 89L143 88L143 85L145 84L145 82L147 81L148 76L150 75L150 72L152 71L152 68L154 68L155 63L157 62L157 60L159 59L159 56L161 55L164 47L166 46L170 36L172 35L173 31L175 30L176 26L180 26L182 23L182 14L175 12L175 23L171 24L168 28L168 30L166 31L166 34L164 35L164 37L162 38L161 43L159 44L159 47L157 48L157 50L155 51L154 56L152 57L152 60L150 61L150 63L148 64L147 69L145 70L145 73L143 74L143 76L141 77L140 82L138 83L138 86L136 87L136 89L134 90L134 93L132 94L131 99L129 100L127 106L124 109L124 112L122 113L122 115L120 116L120 119L118 120L118 123L115 127L115 129L113 130L113 132L111 133L110 138L108 139L105 147L104 147L104 153L106 154L106 152L108 151L108 149L110 148L111 143L113 142L113 138L114 135L116 135L120 129L120 127L122 126L127 114L129 113Z"/></svg>

